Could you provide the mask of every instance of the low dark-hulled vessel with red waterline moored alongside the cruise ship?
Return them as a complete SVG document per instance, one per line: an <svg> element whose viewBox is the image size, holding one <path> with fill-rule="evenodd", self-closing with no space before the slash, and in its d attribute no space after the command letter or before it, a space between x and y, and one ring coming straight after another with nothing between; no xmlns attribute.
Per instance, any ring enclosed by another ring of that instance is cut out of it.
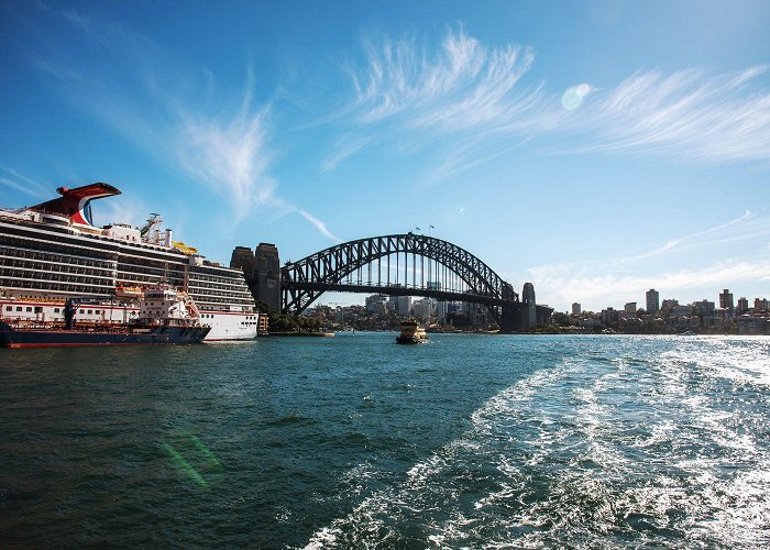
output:
<svg viewBox="0 0 770 550"><path fill-rule="evenodd" d="M211 330L200 323L193 299L168 285L146 288L136 319L123 324L77 322L78 308L91 298L70 298L62 322L0 319L0 348L53 348L67 345L189 344L199 343Z"/></svg>

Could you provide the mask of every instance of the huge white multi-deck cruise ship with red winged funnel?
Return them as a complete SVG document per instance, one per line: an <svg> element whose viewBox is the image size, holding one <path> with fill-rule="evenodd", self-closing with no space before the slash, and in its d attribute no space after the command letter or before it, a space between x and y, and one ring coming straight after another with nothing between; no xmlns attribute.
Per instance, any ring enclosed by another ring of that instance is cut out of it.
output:
<svg viewBox="0 0 770 550"><path fill-rule="evenodd" d="M142 228L95 227L91 201L120 195L97 183L56 189L61 197L18 210L0 209L0 317L63 321L67 298L91 298L78 322L127 323L136 297L160 284L187 293L211 330L206 341L246 340L260 316L241 270L210 262L174 241L151 215Z"/></svg>

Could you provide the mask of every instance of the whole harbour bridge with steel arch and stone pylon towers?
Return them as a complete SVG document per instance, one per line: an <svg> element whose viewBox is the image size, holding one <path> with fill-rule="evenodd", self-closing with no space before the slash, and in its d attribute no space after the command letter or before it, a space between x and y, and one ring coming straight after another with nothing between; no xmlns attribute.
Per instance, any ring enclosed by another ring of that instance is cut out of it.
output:
<svg viewBox="0 0 770 550"><path fill-rule="evenodd" d="M393 234L349 241L280 265L278 249L238 246L231 267L242 268L254 298L284 314L300 315L326 292L421 296L486 306L503 332L546 322L551 309L521 296L466 250L435 237Z"/></svg>

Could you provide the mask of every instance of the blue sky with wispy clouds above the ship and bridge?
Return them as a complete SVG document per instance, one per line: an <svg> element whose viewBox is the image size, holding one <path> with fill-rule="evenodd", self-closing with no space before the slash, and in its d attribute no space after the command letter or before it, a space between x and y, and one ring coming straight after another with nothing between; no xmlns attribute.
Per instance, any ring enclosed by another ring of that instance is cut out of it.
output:
<svg viewBox="0 0 770 550"><path fill-rule="evenodd" d="M770 2L0 6L0 205L215 261L433 226L539 302L770 298ZM363 300L330 295L328 302Z"/></svg>

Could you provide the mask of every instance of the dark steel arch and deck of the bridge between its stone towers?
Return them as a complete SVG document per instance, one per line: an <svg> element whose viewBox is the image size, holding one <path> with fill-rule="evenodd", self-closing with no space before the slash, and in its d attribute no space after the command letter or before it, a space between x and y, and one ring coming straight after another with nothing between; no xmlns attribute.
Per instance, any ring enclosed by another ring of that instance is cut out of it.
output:
<svg viewBox="0 0 770 550"><path fill-rule="evenodd" d="M461 278L471 294L424 287L344 284L344 278L392 254L414 254L444 265ZM519 305L519 296L494 270L464 249L441 239L414 233L359 239L330 246L280 268L283 311L299 315L327 290L430 296L473 301L490 307L499 321L498 307Z"/></svg>

